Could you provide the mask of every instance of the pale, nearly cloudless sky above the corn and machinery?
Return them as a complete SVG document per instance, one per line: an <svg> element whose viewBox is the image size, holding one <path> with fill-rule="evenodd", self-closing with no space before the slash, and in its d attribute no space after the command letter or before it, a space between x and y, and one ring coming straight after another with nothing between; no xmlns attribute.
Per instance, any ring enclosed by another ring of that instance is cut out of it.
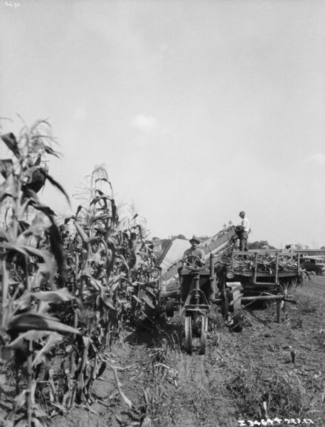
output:
<svg viewBox="0 0 325 427"><path fill-rule="evenodd" d="M244 210L249 241L325 246L325 1L0 0L2 133L17 114L70 196L105 164L151 237Z"/></svg>

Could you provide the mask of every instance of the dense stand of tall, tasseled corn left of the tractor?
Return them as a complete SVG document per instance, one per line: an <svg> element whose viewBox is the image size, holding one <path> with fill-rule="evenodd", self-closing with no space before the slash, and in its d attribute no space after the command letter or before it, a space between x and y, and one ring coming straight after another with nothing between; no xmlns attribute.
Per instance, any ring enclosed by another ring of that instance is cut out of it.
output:
<svg viewBox="0 0 325 427"><path fill-rule="evenodd" d="M92 385L110 368L105 350L126 322L157 315L159 272L137 215L119 220L103 167L92 173L87 204L58 225L39 199L49 182L70 204L48 172L48 158L59 157L48 122L1 140L13 154L0 160L0 347L16 381L6 425L41 427L56 413L92 404Z"/></svg>

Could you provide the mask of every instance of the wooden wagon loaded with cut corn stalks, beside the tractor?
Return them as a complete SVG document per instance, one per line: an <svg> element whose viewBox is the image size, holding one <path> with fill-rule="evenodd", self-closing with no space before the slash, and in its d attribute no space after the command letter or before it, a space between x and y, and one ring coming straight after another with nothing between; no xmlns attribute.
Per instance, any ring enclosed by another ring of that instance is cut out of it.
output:
<svg viewBox="0 0 325 427"><path fill-rule="evenodd" d="M301 255L282 251L232 251L212 260L218 283L215 302L234 330L241 330L240 312L253 302L277 302L277 322L285 302L296 303L289 291L302 280Z"/></svg>

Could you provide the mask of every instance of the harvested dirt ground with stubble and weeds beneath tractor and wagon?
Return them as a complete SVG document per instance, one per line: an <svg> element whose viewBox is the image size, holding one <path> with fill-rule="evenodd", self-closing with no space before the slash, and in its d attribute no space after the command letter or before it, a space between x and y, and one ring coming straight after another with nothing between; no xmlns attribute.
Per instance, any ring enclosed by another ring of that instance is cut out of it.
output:
<svg viewBox="0 0 325 427"><path fill-rule="evenodd" d="M211 313L206 354L183 350L181 317L160 331L126 331L107 354L96 402L55 416L58 427L325 426L325 278L275 304L245 310L243 332ZM194 344L198 344L194 342ZM6 397L5 397L6 399ZM279 421L281 420L281 421Z"/></svg>

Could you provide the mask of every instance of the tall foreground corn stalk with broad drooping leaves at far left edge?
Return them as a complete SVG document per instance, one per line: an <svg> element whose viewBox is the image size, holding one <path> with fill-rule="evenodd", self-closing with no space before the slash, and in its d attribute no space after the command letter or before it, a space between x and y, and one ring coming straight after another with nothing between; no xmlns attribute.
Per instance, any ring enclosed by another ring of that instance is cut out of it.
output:
<svg viewBox="0 0 325 427"><path fill-rule="evenodd" d="M18 403L11 415L19 411L26 414L28 427L36 423L41 412L35 403L36 376L33 366L46 354L50 346L40 345L40 339L51 332L80 334L68 325L48 316L50 303L71 300L73 297L62 290L55 291L55 273L58 270L58 283L64 283L63 253L54 211L43 205L38 192L50 181L63 194L65 191L52 176L43 162L45 154L58 154L50 147L50 135L40 133L47 122L37 122L30 129L24 127L16 139L12 133L2 135L1 139L12 153L12 159L0 161L3 181L0 185L0 202L6 201L6 228L2 228L1 251L1 352L2 357L14 352L16 369L27 363L27 389L18 396ZM68 199L68 196L65 194ZM39 213L32 223L27 221L28 209ZM38 248L42 233L48 233L51 251ZM39 261L43 261L42 267ZM12 267L14 265L14 268ZM51 292L32 292L39 288L42 268L48 278L46 285ZM39 274L38 274L39 273ZM42 304L43 302L43 304ZM41 333L41 336L39 335ZM36 349L38 343L38 349ZM25 409L24 409L25 408ZM42 415L42 414L41 414Z"/></svg>

